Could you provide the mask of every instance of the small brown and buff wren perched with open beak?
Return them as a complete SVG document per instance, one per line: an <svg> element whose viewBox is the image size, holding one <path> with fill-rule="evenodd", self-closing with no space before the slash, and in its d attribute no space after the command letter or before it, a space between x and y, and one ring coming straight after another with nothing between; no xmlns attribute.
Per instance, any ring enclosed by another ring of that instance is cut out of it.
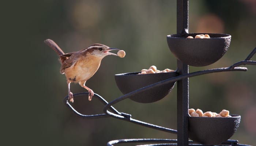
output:
<svg viewBox="0 0 256 146"><path fill-rule="evenodd" d="M110 48L106 45L95 43L80 51L64 53L63 50L52 40L46 39L46 45L51 47L58 55L61 63L60 73L65 74L68 84L68 99L74 102L73 93L70 91L70 84L72 82L78 83L81 87L88 90L88 100L91 101L94 95L92 89L85 85L99 69L101 60L107 55L117 54L111 53L112 50L120 50L117 48Z"/></svg>

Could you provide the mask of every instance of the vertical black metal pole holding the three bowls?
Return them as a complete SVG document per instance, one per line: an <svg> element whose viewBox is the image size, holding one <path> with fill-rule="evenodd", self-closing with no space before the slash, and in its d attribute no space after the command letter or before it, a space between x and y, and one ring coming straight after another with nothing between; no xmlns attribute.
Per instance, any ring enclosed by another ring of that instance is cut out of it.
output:
<svg viewBox="0 0 256 146"><path fill-rule="evenodd" d="M177 34L188 33L188 0L177 0ZM188 74L188 65L177 60L178 75ZM188 146L188 78L177 81L178 146Z"/></svg>

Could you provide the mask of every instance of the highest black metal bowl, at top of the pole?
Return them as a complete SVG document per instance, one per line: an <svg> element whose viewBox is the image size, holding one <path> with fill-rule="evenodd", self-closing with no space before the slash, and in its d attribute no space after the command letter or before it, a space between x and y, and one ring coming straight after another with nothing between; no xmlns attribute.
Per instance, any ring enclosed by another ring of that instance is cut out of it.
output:
<svg viewBox="0 0 256 146"><path fill-rule="evenodd" d="M211 34L208 39L188 39L188 36L195 38L198 34L173 34L167 35L169 49L177 59L191 66L207 66L218 61L227 51L231 35Z"/></svg>

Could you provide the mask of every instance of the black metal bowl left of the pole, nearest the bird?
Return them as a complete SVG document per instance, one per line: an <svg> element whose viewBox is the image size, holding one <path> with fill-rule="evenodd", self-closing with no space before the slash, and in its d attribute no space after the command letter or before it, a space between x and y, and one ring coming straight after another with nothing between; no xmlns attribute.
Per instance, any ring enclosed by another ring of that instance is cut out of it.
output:
<svg viewBox="0 0 256 146"><path fill-rule="evenodd" d="M148 85L157 83L159 81L166 80L168 78L176 77L175 72L169 73L153 73L153 74L138 74L139 72L133 73L122 73L116 74L115 80L118 88L123 94L130 93L137 89L146 87ZM136 93L129 97L131 100L139 103L152 103L165 97L170 91L172 91L175 82L167 83L162 85L160 88L153 88L142 93Z"/></svg>

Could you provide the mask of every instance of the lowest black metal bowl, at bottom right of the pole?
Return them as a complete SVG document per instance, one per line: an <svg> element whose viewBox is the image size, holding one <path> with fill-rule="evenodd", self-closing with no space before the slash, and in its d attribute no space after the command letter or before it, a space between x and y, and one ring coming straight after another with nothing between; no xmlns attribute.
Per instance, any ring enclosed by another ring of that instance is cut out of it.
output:
<svg viewBox="0 0 256 146"><path fill-rule="evenodd" d="M189 138L204 145L226 142L236 131L240 115L232 117L189 117Z"/></svg>

